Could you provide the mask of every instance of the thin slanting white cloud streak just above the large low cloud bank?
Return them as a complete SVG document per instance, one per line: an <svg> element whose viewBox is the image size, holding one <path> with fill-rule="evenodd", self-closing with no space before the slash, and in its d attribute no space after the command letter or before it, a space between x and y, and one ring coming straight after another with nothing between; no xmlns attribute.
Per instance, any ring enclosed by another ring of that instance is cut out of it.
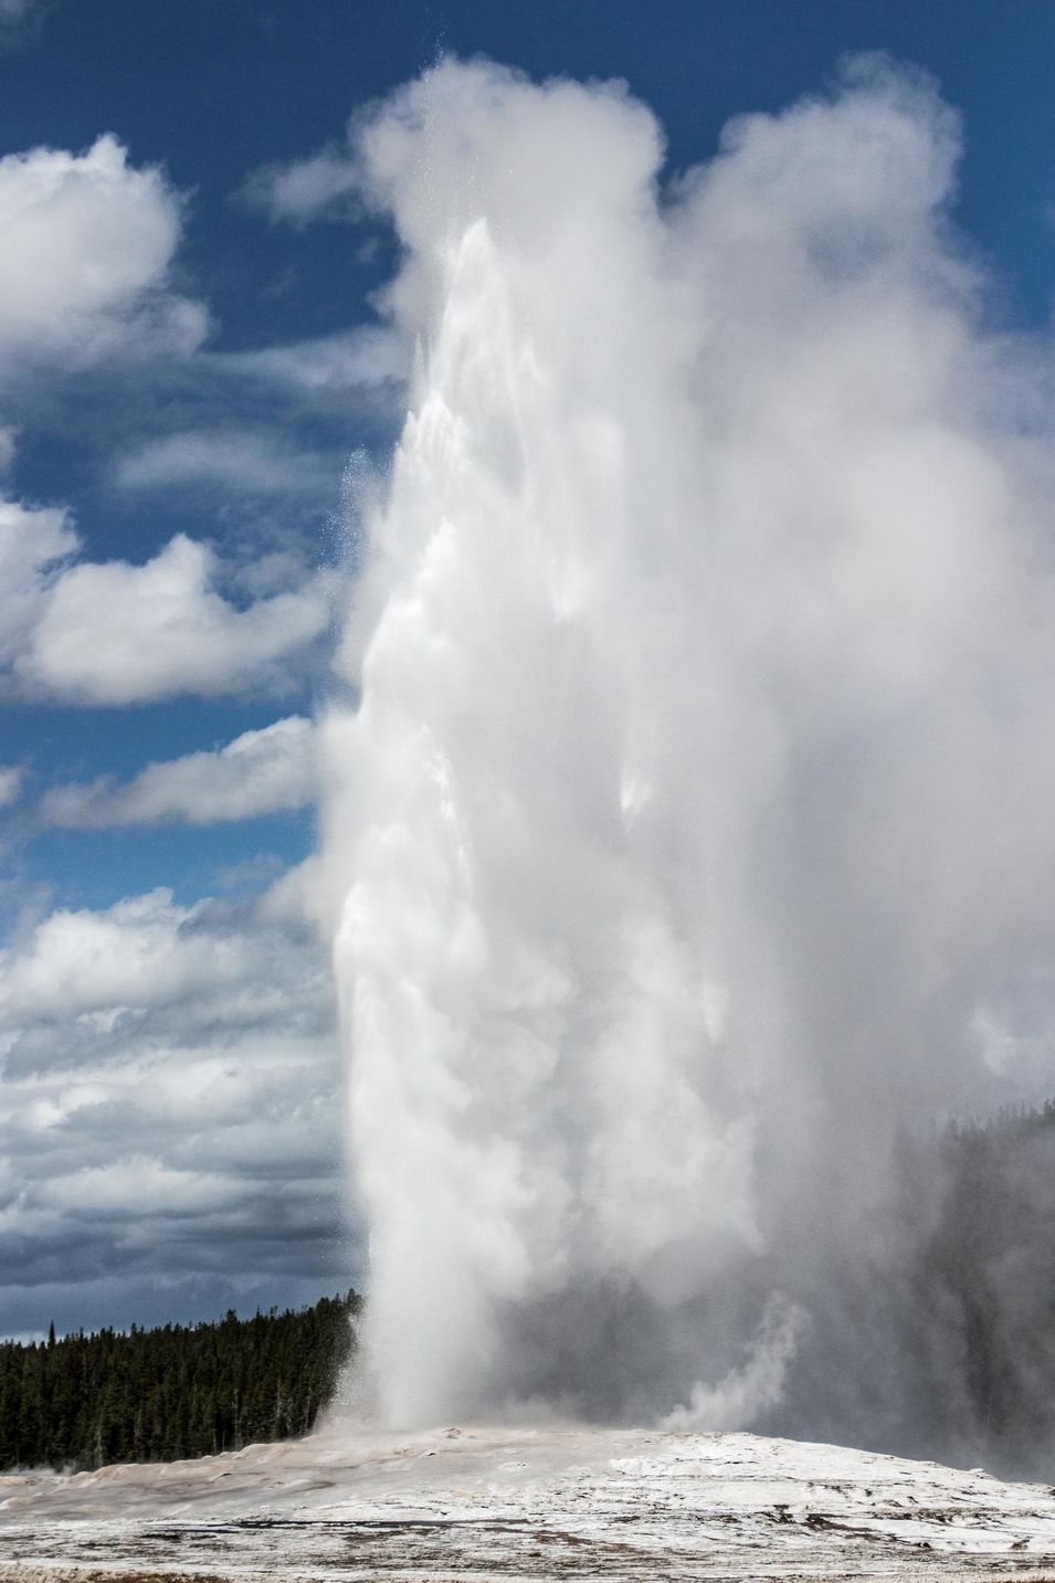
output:
<svg viewBox="0 0 1055 1583"><path fill-rule="evenodd" d="M149 765L124 787L106 780L55 787L41 812L68 829L168 820L211 825L303 807L315 788L312 722L290 716L260 731L244 731L214 752Z"/></svg>

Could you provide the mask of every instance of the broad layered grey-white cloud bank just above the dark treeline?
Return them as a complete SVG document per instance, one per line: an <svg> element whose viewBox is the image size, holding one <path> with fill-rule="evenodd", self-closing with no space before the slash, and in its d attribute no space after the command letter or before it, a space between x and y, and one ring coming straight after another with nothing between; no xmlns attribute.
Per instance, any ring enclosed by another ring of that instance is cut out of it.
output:
<svg viewBox="0 0 1055 1583"><path fill-rule="evenodd" d="M0 953L0 1323L204 1317L344 1279L331 1016L290 909L154 891Z"/></svg>

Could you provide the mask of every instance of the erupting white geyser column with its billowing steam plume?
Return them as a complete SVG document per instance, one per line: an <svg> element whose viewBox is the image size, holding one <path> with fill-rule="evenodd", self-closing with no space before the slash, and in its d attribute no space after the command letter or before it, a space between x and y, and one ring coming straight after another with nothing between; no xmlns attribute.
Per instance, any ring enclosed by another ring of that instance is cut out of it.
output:
<svg viewBox="0 0 1055 1583"><path fill-rule="evenodd" d="M882 60L665 182L618 84L356 122L418 344L325 723L390 1423L911 1418L898 1160L1053 943L1050 393L957 154Z"/></svg>

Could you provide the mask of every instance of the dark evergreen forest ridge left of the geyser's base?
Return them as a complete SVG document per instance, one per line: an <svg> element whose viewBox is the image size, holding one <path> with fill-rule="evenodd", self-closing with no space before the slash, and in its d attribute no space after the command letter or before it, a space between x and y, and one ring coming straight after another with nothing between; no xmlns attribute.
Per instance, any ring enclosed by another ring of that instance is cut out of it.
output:
<svg viewBox="0 0 1055 1583"><path fill-rule="evenodd" d="M360 1298L217 1323L0 1342L0 1467L100 1467L306 1434Z"/></svg>

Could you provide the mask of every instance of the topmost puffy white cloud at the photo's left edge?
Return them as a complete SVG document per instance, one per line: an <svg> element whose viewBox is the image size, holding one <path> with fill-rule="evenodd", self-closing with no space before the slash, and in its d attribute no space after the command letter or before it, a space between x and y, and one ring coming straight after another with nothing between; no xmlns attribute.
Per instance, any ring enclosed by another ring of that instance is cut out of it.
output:
<svg viewBox="0 0 1055 1583"><path fill-rule="evenodd" d="M112 136L0 158L0 350L81 366L117 348L192 350L201 304L169 290L181 201Z"/></svg>

